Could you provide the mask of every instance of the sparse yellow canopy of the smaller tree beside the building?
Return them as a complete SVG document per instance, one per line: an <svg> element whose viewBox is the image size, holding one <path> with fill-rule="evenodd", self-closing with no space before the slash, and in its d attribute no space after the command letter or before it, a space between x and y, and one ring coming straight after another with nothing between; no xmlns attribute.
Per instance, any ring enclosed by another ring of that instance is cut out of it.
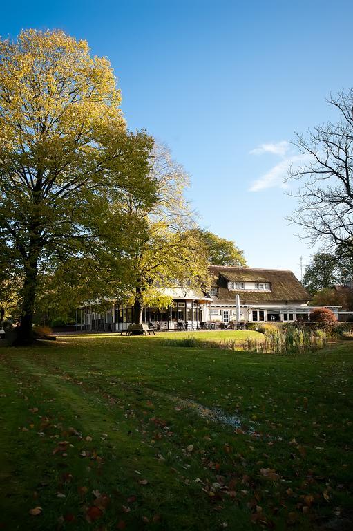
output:
<svg viewBox="0 0 353 531"><path fill-rule="evenodd" d="M140 308L169 304L172 297L161 287L175 286L175 282L200 286L208 277L204 245L190 230L195 221L184 197L189 178L164 145L153 149L150 178L156 187L153 203L144 205L129 193L122 198L124 212L148 226L148 237L131 255L129 300Z"/></svg>

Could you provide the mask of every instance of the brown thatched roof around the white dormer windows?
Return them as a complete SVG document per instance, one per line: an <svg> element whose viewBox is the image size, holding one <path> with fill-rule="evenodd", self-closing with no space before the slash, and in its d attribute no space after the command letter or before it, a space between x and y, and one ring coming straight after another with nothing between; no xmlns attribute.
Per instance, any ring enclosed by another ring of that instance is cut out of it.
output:
<svg viewBox="0 0 353 531"><path fill-rule="evenodd" d="M235 268L211 265L209 268L213 277L213 286L217 287L217 295L213 302L234 301L237 293L240 304L270 304L283 302L286 304L305 304L310 297L298 281L294 273L281 269ZM262 290L228 290L228 281L234 282L269 282L271 292Z"/></svg>

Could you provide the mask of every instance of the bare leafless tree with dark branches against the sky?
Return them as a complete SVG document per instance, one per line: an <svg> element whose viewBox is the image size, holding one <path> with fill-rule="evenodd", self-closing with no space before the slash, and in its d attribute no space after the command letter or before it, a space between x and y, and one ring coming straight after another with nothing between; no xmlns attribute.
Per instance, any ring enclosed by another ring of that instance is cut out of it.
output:
<svg viewBox="0 0 353 531"><path fill-rule="evenodd" d="M291 194L298 208L289 220L303 227L312 245L353 259L353 88L327 103L337 109L338 121L296 134L303 163L289 169L289 178L302 184Z"/></svg>

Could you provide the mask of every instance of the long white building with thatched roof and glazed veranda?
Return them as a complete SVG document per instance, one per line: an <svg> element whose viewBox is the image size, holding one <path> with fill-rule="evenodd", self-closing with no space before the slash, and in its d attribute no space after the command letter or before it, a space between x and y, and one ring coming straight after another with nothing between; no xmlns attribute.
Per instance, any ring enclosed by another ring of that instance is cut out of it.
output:
<svg viewBox="0 0 353 531"><path fill-rule="evenodd" d="M198 330L238 326L246 322L309 320L317 306L289 270L211 265L211 288L166 288L173 297L167 308L144 308L143 321L160 330ZM238 297L237 297L238 295ZM78 328L125 330L133 323L133 308L119 301L86 304L77 311ZM330 307L338 317L340 306Z"/></svg>

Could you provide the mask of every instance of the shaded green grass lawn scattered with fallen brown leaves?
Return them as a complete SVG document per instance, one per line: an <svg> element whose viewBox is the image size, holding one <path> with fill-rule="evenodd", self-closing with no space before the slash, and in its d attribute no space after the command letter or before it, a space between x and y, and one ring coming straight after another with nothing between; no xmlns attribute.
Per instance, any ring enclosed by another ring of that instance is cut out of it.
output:
<svg viewBox="0 0 353 531"><path fill-rule="evenodd" d="M0 530L351 529L352 342L166 337L0 346Z"/></svg>

